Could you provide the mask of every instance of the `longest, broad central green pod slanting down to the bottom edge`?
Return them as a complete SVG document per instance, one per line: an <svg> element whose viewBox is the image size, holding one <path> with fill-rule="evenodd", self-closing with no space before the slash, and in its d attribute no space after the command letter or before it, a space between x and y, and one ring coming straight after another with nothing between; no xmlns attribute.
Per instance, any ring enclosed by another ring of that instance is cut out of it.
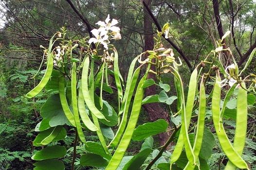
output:
<svg viewBox="0 0 256 170"><path fill-rule="evenodd" d="M141 110L141 106L142 106L141 103L142 103L142 100L144 97L143 84L147 78L149 68L150 68L150 64L148 64L146 73L138 84L138 87L137 87L137 90L135 93L135 97L134 97L134 101L133 101L133 105L132 105L131 115L130 115L130 118L129 118L129 121L127 124L127 128L125 130L125 133L124 133L115 153L113 154L113 156L105 170L116 170L118 168L119 164L121 163L121 161L124 157L124 154L128 148L133 131L136 127L137 120L140 115L140 110Z"/></svg>

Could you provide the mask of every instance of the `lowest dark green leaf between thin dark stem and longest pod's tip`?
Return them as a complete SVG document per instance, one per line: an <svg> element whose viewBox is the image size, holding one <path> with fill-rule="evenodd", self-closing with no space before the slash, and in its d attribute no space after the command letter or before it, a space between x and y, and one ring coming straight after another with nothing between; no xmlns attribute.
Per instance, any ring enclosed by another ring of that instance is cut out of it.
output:
<svg viewBox="0 0 256 170"><path fill-rule="evenodd" d="M89 167L106 167L108 161L98 154L87 153L81 156L80 164Z"/></svg>

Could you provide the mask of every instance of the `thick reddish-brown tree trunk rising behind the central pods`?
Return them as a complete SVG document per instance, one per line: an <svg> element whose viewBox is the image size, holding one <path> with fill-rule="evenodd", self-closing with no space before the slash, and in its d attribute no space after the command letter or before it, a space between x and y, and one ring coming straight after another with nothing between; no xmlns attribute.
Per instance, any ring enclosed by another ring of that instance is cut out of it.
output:
<svg viewBox="0 0 256 170"><path fill-rule="evenodd" d="M151 7L151 0L144 0L148 7ZM152 20L149 16L147 10L144 6L144 41L145 41L145 51L147 50L153 50L154 48L154 38L153 38L153 27L152 27ZM151 65L151 69L155 70L154 66ZM154 79L156 80L156 76L153 73L148 73L148 79ZM156 86L151 85L148 88L146 88L146 96L154 95L156 94ZM159 105L159 103L149 103L144 105L144 109L148 113L149 120L155 121L157 119L165 119L169 122L169 114L165 112L165 110ZM159 135L160 144L164 145L165 142L168 140L169 134L168 133L162 133Z"/></svg>

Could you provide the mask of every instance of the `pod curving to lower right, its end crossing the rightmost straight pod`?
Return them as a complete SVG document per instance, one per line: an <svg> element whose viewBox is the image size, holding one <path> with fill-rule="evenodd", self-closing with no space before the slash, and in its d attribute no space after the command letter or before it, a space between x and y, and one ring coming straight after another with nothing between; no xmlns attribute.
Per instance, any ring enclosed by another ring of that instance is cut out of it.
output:
<svg viewBox="0 0 256 170"><path fill-rule="evenodd" d="M231 142L226 135L224 130L224 126L220 123L220 96L221 96L221 87L220 87L220 77L219 75L216 76L216 83L214 85L213 97L212 97L212 116L214 127L216 129L217 136L219 138L219 144L229 158L229 160L238 168L240 169L247 169L249 170L246 162L241 158L241 156L237 153L237 151L232 146Z"/></svg>

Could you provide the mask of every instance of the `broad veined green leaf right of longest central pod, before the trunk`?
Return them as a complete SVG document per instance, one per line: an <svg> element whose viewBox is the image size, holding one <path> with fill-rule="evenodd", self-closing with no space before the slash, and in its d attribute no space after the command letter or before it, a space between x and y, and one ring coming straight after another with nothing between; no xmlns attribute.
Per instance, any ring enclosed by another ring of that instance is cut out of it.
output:
<svg viewBox="0 0 256 170"><path fill-rule="evenodd" d="M168 123L164 119L139 125L133 132L132 140L143 140L149 136L165 132L167 128Z"/></svg>

